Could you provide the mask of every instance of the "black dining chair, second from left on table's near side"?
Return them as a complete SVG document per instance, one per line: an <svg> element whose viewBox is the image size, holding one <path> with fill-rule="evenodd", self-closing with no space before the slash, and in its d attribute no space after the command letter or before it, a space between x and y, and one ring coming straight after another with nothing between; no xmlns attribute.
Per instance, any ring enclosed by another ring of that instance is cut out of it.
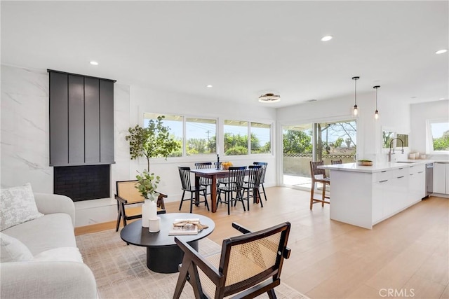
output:
<svg viewBox="0 0 449 299"><path fill-rule="evenodd" d="M220 184L217 187L217 207L219 203L227 204L227 214L230 214L230 207L237 200L241 201L243 205L243 211L246 211L245 204L243 203L243 181L245 180L245 172L246 166L231 166L228 169L227 176L223 178L225 180L225 184ZM222 199L221 195L225 194L225 199ZM233 193L236 193L236 197L233 198Z"/></svg>

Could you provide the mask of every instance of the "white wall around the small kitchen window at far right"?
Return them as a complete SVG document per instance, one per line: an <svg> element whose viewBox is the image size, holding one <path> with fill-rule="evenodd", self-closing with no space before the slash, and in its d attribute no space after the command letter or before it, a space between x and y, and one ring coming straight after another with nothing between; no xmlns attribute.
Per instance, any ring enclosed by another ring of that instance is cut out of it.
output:
<svg viewBox="0 0 449 299"><path fill-rule="evenodd" d="M426 148L427 120L449 120L449 99L410 105L411 134L410 147L413 151L429 153ZM448 155L445 155L448 159Z"/></svg>

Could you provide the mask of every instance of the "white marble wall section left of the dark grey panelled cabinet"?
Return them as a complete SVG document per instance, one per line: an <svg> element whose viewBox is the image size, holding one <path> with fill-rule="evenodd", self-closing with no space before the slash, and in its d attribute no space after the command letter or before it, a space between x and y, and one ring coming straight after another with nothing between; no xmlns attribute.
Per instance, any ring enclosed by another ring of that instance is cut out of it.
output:
<svg viewBox="0 0 449 299"><path fill-rule="evenodd" d="M48 73L1 66L1 188L53 193L48 166Z"/></svg>

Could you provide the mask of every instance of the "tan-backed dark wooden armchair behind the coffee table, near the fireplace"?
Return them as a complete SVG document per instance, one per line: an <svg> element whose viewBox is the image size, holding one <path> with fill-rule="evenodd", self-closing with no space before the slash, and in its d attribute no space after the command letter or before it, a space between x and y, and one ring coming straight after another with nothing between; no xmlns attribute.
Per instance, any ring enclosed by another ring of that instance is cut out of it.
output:
<svg viewBox="0 0 449 299"><path fill-rule="evenodd" d="M123 218L123 227L126 226L126 221L131 219L142 218L142 207L138 204L144 202L145 198L139 193L139 190L135 188L137 180L133 181L116 181L116 195L117 200L117 223L115 231L119 231L120 219ZM157 197L157 214L165 214L166 207L163 203L163 197L167 195L159 193ZM132 207L128 207L131 206Z"/></svg>

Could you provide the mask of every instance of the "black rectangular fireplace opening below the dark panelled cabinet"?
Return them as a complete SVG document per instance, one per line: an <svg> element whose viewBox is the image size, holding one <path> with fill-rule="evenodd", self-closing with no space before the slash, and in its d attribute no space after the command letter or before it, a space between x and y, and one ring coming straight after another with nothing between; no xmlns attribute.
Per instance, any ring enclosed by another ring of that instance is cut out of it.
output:
<svg viewBox="0 0 449 299"><path fill-rule="evenodd" d="M109 197L109 169L110 165L54 167L53 191L74 202Z"/></svg>

